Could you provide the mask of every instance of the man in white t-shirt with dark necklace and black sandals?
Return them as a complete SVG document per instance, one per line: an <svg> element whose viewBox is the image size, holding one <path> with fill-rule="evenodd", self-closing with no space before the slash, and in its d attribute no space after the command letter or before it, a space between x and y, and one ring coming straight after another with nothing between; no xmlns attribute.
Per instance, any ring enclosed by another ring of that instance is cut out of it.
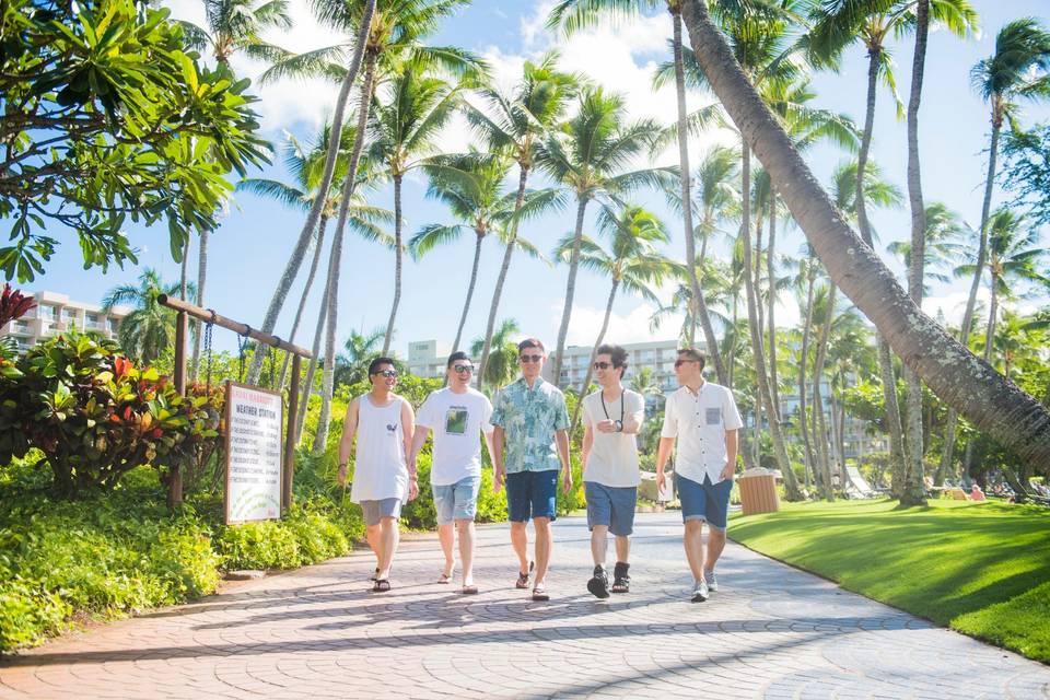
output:
<svg viewBox="0 0 1050 700"><path fill-rule="evenodd" d="M583 483L587 499L587 527L594 575L587 591L609 597L605 571L608 533L616 537L612 593L630 591L630 535L638 504L638 442L645 419L645 399L623 388L627 351L620 346L598 346L594 376L600 389L583 399Z"/></svg>

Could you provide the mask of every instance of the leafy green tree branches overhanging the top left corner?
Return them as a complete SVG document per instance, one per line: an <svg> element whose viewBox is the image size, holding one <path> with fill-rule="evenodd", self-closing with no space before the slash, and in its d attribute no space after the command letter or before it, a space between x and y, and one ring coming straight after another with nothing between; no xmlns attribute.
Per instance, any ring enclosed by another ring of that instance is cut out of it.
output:
<svg viewBox="0 0 1050 700"><path fill-rule="evenodd" d="M0 269L21 281L43 272L55 224L77 232L85 268L136 262L124 234L132 222L165 222L180 259L191 231L215 226L226 175L267 160L248 81L185 52L166 9L0 7L0 218L13 220Z"/></svg>

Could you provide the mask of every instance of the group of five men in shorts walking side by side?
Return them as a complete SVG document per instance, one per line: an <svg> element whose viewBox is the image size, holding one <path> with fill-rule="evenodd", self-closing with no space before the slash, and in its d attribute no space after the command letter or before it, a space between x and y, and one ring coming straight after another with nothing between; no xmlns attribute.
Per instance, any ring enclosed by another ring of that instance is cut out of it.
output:
<svg viewBox="0 0 1050 700"><path fill-rule="evenodd" d="M357 439L350 498L360 503L366 538L376 558L372 590L390 590L390 568L397 551L402 503L419 494L417 458L433 433L431 489L444 568L438 583L454 579L458 535L462 592L478 593L474 581L474 520L481 486L483 436L494 467L493 489L506 488L511 545L517 556L517 588L532 587L534 600L548 600L551 523L557 518L558 488L572 489L569 460L569 413L565 396L540 374L547 359L544 345L529 338L518 343L522 376L503 387L495 406L470 386L475 366L465 352L447 362L447 385L427 397L419 412L394 393L397 371L389 358L369 366L372 388L347 410L339 443L339 482ZM693 348L678 351L675 374L680 388L667 397L656 455L656 483L666 487L664 469L675 450L675 478L685 524L686 558L693 576L691 599L707 600L718 590L714 568L725 546L726 516L736 465L737 430L742 425L733 394L703 378L704 357ZM594 572L586 586L598 598L630 591L630 535L640 482L637 435L645 419L645 401L623 387L628 355L623 348L599 346L594 376L600 388L582 405L582 464L591 528ZM535 542L528 557L526 525L533 522ZM708 523L707 551L702 526ZM608 534L615 538L611 579L606 565Z"/></svg>

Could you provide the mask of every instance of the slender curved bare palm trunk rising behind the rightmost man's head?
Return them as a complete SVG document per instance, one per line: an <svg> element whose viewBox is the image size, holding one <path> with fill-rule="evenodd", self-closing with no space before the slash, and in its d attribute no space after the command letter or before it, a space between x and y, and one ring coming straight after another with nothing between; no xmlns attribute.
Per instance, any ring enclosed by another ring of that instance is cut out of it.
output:
<svg viewBox="0 0 1050 700"><path fill-rule="evenodd" d="M681 12L677 5L673 5L670 11L670 22L674 28L675 91L678 98L678 162L681 171L679 180L681 182L682 228L686 234L686 267L689 268L689 283L692 287L697 315L700 317L700 325L703 328L708 355L714 363L714 373L719 377L719 384L727 386L728 375L722 362L722 353L719 352L719 341L714 336L714 326L711 325L711 315L708 314L708 303L703 299L703 291L700 289L700 280L697 277L696 241L692 232L692 196L689 192L692 172L689 170L689 132L686 124L686 75L681 61ZM693 324L696 324L696 320L693 318ZM692 347L691 336L689 345Z"/></svg>

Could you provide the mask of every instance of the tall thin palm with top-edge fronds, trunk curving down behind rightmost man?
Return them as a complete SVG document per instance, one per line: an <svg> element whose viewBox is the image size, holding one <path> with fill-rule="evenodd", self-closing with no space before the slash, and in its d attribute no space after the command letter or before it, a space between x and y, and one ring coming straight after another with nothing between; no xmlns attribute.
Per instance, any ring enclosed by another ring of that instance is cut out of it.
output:
<svg viewBox="0 0 1050 700"><path fill-rule="evenodd" d="M682 202L691 202L690 192L690 173L689 167L689 129L687 127L688 113L686 110L686 79L682 67L681 50L681 0L561 0L551 10L547 20L547 26L562 27L567 35L573 32L595 24L599 15L609 14L614 19L632 18L644 8L656 8L663 4L670 15L673 39L672 51L674 55L675 71L675 93L677 97L677 141L678 141L678 172L679 189ZM684 237L686 240L686 260L696 260L696 241L693 240L692 209L689 206L681 208L681 223ZM703 265L701 257L700 265ZM714 366L719 383L728 386L728 373L725 363L722 361L722 353L719 351L718 339L714 335L714 327L711 325L711 317L708 314L707 300L703 290L700 288L700 279L697 276L697 268L693 265L686 266L689 273L689 284L692 289L691 299L695 300L697 313L703 337L707 345L708 354ZM559 349L556 360L560 366L561 350Z"/></svg>

